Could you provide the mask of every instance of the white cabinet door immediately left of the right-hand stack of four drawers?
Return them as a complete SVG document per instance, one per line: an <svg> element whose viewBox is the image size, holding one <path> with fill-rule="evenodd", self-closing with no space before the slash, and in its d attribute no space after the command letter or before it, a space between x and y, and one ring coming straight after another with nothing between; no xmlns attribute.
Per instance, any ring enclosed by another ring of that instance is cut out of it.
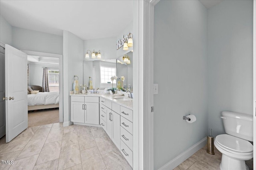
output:
<svg viewBox="0 0 256 170"><path fill-rule="evenodd" d="M120 150L120 115L112 111L112 141Z"/></svg>

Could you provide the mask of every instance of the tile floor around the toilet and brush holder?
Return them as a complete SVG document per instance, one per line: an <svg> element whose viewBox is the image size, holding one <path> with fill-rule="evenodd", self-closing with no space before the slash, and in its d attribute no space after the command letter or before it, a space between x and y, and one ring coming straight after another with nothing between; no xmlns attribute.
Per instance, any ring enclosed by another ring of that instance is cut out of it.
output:
<svg viewBox="0 0 256 170"><path fill-rule="evenodd" d="M207 146L198 150L187 160L182 162L174 170L220 170L220 162L222 154L214 147L214 155L206 152ZM253 158L245 161L249 170L253 170Z"/></svg>

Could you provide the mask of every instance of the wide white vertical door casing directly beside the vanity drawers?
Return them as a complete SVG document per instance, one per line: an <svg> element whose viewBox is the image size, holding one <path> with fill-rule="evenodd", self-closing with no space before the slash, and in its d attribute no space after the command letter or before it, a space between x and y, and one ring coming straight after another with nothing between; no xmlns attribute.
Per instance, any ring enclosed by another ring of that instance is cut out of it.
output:
<svg viewBox="0 0 256 170"><path fill-rule="evenodd" d="M133 1L133 169L144 168L144 0Z"/></svg>

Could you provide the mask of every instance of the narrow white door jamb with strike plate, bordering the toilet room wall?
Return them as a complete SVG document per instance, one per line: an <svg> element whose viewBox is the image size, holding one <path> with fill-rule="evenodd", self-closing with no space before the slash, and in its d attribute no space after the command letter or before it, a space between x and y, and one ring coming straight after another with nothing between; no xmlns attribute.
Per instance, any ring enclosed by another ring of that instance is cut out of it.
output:
<svg viewBox="0 0 256 170"><path fill-rule="evenodd" d="M154 95L152 93L154 83L154 6L160 0L146 0L145 3L145 55L144 55L144 154L145 169L154 169Z"/></svg>

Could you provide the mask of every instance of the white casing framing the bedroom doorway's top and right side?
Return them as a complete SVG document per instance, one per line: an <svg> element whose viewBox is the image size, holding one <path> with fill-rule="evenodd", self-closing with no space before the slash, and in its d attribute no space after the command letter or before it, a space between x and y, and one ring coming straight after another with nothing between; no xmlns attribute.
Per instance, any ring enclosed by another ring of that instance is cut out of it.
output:
<svg viewBox="0 0 256 170"><path fill-rule="evenodd" d="M60 54L52 54L52 53L43 53L37 51L29 51L29 50L20 50L26 53L27 55L35 55L41 57L53 57L59 59L59 92L60 92L60 100L59 100L59 122L63 122L63 55Z"/></svg>

